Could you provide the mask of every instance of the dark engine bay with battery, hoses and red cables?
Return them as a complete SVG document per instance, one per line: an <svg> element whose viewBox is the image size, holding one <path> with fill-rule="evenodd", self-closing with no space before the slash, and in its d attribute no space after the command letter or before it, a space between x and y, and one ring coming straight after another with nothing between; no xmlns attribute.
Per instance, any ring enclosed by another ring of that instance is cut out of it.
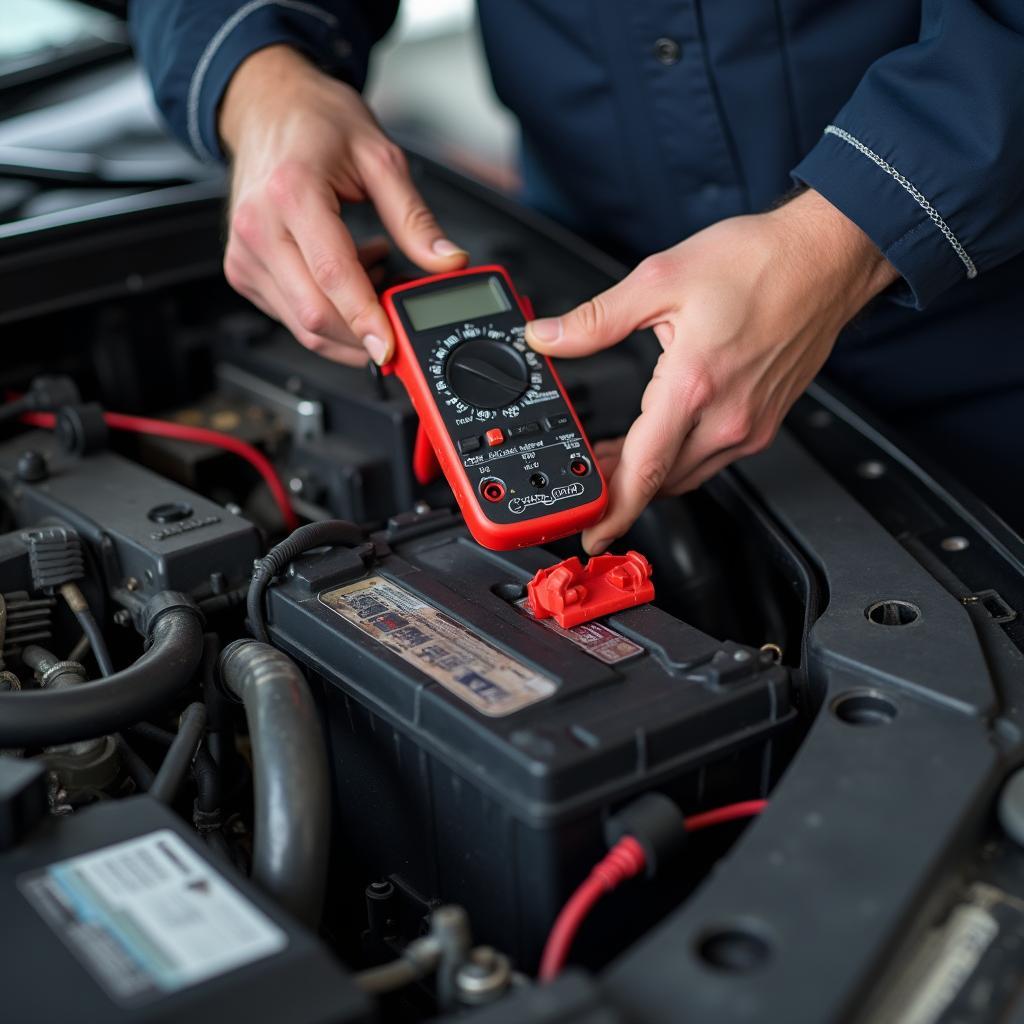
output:
<svg viewBox="0 0 1024 1024"><path fill-rule="evenodd" d="M539 310L618 272L417 173ZM913 1019L1006 984L1009 530L819 389L623 540L652 604L538 621L526 584L578 541L473 542L412 472L400 386L227 291L218 210L204 183L0 251L9 1019L893 1020L958 912L998 928ZM623 432L655 355L637 335L559 366L592 438Z"/></svg>

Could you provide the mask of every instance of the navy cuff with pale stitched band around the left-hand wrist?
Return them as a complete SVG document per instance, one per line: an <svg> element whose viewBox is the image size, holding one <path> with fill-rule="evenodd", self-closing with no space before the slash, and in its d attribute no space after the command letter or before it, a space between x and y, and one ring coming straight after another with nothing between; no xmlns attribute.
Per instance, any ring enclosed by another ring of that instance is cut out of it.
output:
<svg viewBox="0 0 1024 1024"><path fill-rule="evenodd" d="M239 65L257 50L279 43L302 51L323 71L361 88L370 42L360 27L301 0L250 0L210 37L188 82L188 141L204 160L223 160L217 115L227 83ZM357 35L359 38L352 38Z"/></svg>

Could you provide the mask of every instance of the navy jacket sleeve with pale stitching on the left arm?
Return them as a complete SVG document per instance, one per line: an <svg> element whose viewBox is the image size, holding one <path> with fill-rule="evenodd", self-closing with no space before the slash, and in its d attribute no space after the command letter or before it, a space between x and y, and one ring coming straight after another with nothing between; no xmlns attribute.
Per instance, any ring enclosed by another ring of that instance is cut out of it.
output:
<svg viewBox="0 0 1024 1024"><path fill-rule="evenodd" d="M223 159L217 110L249 54L288 43L361 88L373 44L398 0L130 0L136 55L171 131L204 160Z"/></svg>

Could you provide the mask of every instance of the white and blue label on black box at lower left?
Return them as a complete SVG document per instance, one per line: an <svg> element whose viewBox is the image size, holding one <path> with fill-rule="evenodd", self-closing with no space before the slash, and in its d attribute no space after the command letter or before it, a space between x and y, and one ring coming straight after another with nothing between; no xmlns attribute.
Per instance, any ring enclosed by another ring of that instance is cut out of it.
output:
<svg viewBox="0 0 1024 1024"><path fill-rule="evenodd" d="M276 953L288 936L169 828L23 874L18 889L118 1002Z"/></svg>

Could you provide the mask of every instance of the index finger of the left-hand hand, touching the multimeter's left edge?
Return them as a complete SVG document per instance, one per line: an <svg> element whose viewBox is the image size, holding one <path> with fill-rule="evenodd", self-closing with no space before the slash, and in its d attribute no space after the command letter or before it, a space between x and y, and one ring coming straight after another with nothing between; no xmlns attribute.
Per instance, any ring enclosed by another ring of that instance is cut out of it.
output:
<svg viewBox="0 0 1024 1024"><path fill-rule="evenodd" d="M361 342L375 362L387 362L394 351L391 325L336 206L310 191L288 208L285 224L308 276L331 301L348 334Z"/></svg>

